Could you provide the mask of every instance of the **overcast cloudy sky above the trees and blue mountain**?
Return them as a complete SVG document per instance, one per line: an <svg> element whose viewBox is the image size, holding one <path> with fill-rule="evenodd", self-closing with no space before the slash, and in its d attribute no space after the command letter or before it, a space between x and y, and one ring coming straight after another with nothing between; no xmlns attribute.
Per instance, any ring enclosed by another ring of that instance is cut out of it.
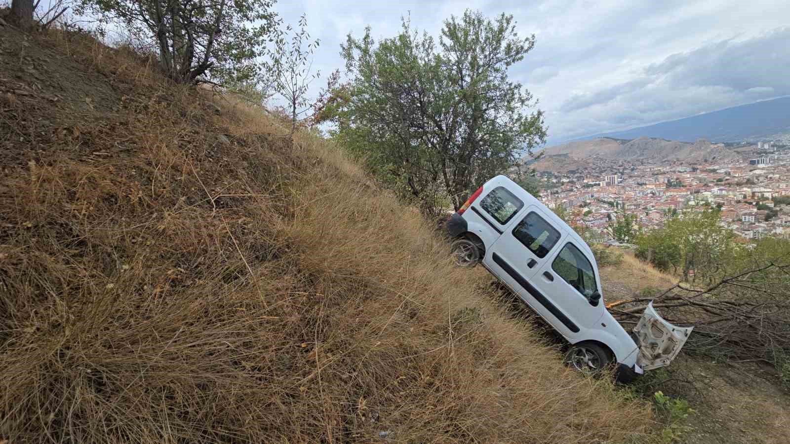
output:
<svg viewBox="0 0 790 444"><path fill-rule="evenodd" d="M519 35L537 43L511 70L546 113L548 145L610 130L679 119L790 95L790 1L371 2L280 0L296 23L307 13L321 39L314 66L342 68L348 32L386 38L400 17L438 37L442 21L466 8L513 14ZM314 92L325 81L316 82ZM790 111L788 111L790 112Z"/></svg>

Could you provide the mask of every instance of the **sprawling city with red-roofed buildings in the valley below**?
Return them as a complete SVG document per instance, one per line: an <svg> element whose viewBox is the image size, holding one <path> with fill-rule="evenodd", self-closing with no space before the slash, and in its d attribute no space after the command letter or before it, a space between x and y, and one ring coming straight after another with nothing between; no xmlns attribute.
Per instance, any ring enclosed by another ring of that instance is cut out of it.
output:
<svg viewBox="0 0 790 444"><path fill-rule="evenodd" d="M645 160L589 162L563 174L542 171L540 201L570 210L574 224L601 239L616 213L659 228L683 210L720 209L721 224L746 239L790 236L790 147L758 141L743 158L709 164Z"/></svg>

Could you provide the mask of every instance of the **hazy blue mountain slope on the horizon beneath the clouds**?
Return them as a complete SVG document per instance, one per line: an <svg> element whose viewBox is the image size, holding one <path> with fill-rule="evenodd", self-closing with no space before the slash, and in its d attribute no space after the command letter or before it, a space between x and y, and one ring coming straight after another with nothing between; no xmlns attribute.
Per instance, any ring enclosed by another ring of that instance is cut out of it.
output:
<svg viewBox="0 0 790 444"><path fill-rule="evenodd" d="M700 138L717 142L758 141L790 134L790 97L780 97L731 107L671 122L641 126L631 130L594 134L574 140L600 137L632 140L658 137L670 141L694 142Z"/></svg>

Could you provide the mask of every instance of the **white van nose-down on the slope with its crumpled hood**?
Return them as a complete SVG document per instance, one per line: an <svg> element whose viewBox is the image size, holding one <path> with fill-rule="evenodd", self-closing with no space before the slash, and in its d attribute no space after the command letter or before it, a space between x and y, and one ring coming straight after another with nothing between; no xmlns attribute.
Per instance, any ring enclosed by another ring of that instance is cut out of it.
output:
<svg viewBox="0 0 790 444"><path fill-rule="evenodd" d="M459 265L478 263L570 342L567 362L621 380L669 365L693 327L660 318L652 303L631 337L604 307L592 250L573 228L504 175L489 180L447 220Z"/></svg>

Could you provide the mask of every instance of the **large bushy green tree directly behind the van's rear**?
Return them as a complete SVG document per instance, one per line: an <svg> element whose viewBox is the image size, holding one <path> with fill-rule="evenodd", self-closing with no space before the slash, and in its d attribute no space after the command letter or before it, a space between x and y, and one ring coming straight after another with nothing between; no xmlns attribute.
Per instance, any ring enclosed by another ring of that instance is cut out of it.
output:
<svg viewBox="0 0 790 444"><path fill-rule="evenodd" d="M338 88L337 137L401 196L435 211L458 209L491 176L544 142L543 113L508 72L532 50L513 17L467 10L444 22L438 43L408 20L378 43L367 28L341 54L350 81ZM436 199L442 194L445 199Z"/></svg>

